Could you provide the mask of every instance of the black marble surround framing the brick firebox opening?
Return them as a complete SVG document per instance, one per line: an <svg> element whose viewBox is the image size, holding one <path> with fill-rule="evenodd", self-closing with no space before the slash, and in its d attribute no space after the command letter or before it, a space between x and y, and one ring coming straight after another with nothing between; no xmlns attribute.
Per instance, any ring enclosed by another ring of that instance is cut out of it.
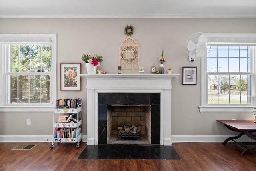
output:
<svg viewBox="0 0 256 171"><path fill-rule="evenodd" d="M160 93L98 93L98 143L107 144L109 105L151 105L151 143L160 144Z"/></svg>

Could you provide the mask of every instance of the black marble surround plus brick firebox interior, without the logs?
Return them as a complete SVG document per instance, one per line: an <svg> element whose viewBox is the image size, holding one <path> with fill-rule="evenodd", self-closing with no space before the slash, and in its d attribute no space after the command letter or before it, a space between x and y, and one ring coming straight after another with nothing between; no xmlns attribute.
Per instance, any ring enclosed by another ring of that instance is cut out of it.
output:
<svg viewBox="0 0 256 171"><path fill-rule="evenodd" d="M160 93L98 93L98 143L108 143L122 123L140 126L150 143L160 144Z"/></svg>

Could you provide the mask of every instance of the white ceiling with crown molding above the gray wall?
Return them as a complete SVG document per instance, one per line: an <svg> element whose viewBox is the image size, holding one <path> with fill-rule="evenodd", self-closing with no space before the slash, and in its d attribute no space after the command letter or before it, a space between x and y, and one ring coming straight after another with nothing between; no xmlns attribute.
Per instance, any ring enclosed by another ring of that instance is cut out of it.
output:
<svg viewBox="0 0 256 171"><path fill-rule="evenodd" d="M256 17L256 0L0 0L0 18Z"/></svg>

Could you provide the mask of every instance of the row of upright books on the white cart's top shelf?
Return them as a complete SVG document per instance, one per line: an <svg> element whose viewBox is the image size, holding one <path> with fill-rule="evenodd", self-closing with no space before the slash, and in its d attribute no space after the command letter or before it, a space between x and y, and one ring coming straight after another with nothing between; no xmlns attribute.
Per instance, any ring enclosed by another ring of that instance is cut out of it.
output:
<svg viewBox="0 0 256 171"><path fill-rule="evenodd" d="M79 104L82 103L82 99L58 99L56 101L56 108L77 108Z"/></svg>

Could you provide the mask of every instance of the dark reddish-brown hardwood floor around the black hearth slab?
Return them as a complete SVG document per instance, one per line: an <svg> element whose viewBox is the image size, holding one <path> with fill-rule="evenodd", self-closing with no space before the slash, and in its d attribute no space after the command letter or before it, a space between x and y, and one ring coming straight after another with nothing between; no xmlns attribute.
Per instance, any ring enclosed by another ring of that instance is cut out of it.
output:
<svg viewBox="0 0 256 171"><path fill-rule="evenodd" d="M31 150L11 150L36 144ZM255 171L256 151L234 143L173 143L181 160L77 159L86 143L0 143L0 171ZM125 152L124 152L125 153Z"/></svg>

